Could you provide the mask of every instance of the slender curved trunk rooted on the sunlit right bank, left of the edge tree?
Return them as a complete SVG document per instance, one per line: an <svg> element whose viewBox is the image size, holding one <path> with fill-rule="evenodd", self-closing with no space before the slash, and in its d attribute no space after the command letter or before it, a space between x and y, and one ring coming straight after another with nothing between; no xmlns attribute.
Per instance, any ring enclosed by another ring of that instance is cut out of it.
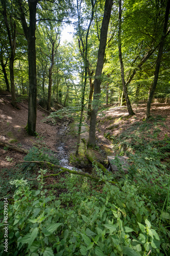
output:
<svg viewBox="0 0 170 256"><path fill-rule="evenodd" d="M123 90L124 90L124 95L125 95L125 99L126 99L127 109L128 109L129 115L135 115L135 113L132 110L131 102L130 102L129 96L128 96L128 88L127 88L127 84L125 82L124 63L123 63L123 59L122 59L122 43L121 43L122 1L118 0L118 4L119 4L118 55L119 55L119 61L120 61L121 78L122 78Z"/></svg>

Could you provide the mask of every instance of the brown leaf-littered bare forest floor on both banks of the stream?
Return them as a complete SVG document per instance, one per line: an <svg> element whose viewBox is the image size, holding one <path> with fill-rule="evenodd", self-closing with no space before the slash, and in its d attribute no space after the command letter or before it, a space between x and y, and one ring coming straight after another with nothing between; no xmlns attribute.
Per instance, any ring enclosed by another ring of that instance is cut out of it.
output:
<svg viewBox="0 0 170 256"><path fill-rule="evenodd" d="M69 120L57 120L56 125L47 123L44 118L48 116L39 106L37 108L37 137L28 136L25 130L28 118L28 100L18 100L18 109L11 104L11 95L7 92L0 91L0 142L9 143L15 147L30 150L31 147L37 146L39 141L43 141L45 147L57 152L61 142L64 143L65 151L68 156L76 151L77 136L72 133L71 129L67 131ZM107 139L107 135L116 136L136 121L143 122L145 104L133 106L135 116L128 117L126 107L116 107L105 109L98 115L96 125L96 141L98 146L98 157L107 158L107 155L113 155L111 142ZM166 117L165 125L160 126L161 132L158 140L162 140L164 136L170 136L170 104L152 104L151 115ZM65 126L65 132L60 133L61 127ZM83 137L87 138L87 134ZM16 162L23 160L26 155L12 150L4 150L0 146L0 172L2 168L11 168ZM10 160L11 159L11 160Z"/></svg>

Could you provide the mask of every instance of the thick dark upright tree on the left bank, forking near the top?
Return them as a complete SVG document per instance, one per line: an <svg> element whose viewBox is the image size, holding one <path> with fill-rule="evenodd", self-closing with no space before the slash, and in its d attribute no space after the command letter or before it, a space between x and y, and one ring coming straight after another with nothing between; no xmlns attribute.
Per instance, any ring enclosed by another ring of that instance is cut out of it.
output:
<svg viewBox="0 0 170 256"><path fill-rule="evenodd" d="M25 33L25 37L28 42L28 62L29 62L29 112L28 112L28 123L27 123L27 132L29 135L35 135L36 131L36 100L37 100L37 77L36 77L36 13L37 13L37 4L42 3L39 10L40 21L53 20L55 22L62 21L64 15L68 14L67 2L64 5L58 7L58 9L53 10L52 6L57 5L55 0L45 1L45 0L28 0L29 8L29 26L27 24L26 13L25 13L25 3L22 0L16 0L19 7L19 16ZM48 3L48 6L46 3ZM43 6L44 4L44 6ZM49 8L48 8L49 7ZM50 10L52 8L52 10ZM56 10L59 12L59 19L56 19L53 15L57 15ZM48 14L47 14L48 11ZM45 17L43 17L45 16Z"/></svg>

